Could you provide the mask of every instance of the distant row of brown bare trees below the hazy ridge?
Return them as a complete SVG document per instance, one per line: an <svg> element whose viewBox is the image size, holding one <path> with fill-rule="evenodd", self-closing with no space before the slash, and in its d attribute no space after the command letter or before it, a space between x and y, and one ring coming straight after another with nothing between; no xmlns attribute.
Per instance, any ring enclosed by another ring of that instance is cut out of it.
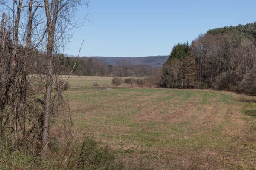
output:
<svg viewBox="0 0 256 170"><path fill-rule="evenodd" d="M60 71L58 74L69 74L75 63L75 57L65 57L58 54L55 67ZM85 76L115 76L115 77L148 77L153 75L160 68L148 65L131 65L123 59L116 62L116 65L107 65L100 59L90 57L79 57L73 74Z"/></svg>

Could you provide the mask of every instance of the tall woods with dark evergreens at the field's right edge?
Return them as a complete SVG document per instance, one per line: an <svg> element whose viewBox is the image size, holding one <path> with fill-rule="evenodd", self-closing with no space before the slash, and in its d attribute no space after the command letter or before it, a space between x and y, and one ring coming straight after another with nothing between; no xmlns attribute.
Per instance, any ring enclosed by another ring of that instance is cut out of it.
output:
<svg viewBox="0 0 256 170"><path fill-rule="evenodd" d="M256 23L216 28L174 46L160 85L256 95Z"/></svg>

